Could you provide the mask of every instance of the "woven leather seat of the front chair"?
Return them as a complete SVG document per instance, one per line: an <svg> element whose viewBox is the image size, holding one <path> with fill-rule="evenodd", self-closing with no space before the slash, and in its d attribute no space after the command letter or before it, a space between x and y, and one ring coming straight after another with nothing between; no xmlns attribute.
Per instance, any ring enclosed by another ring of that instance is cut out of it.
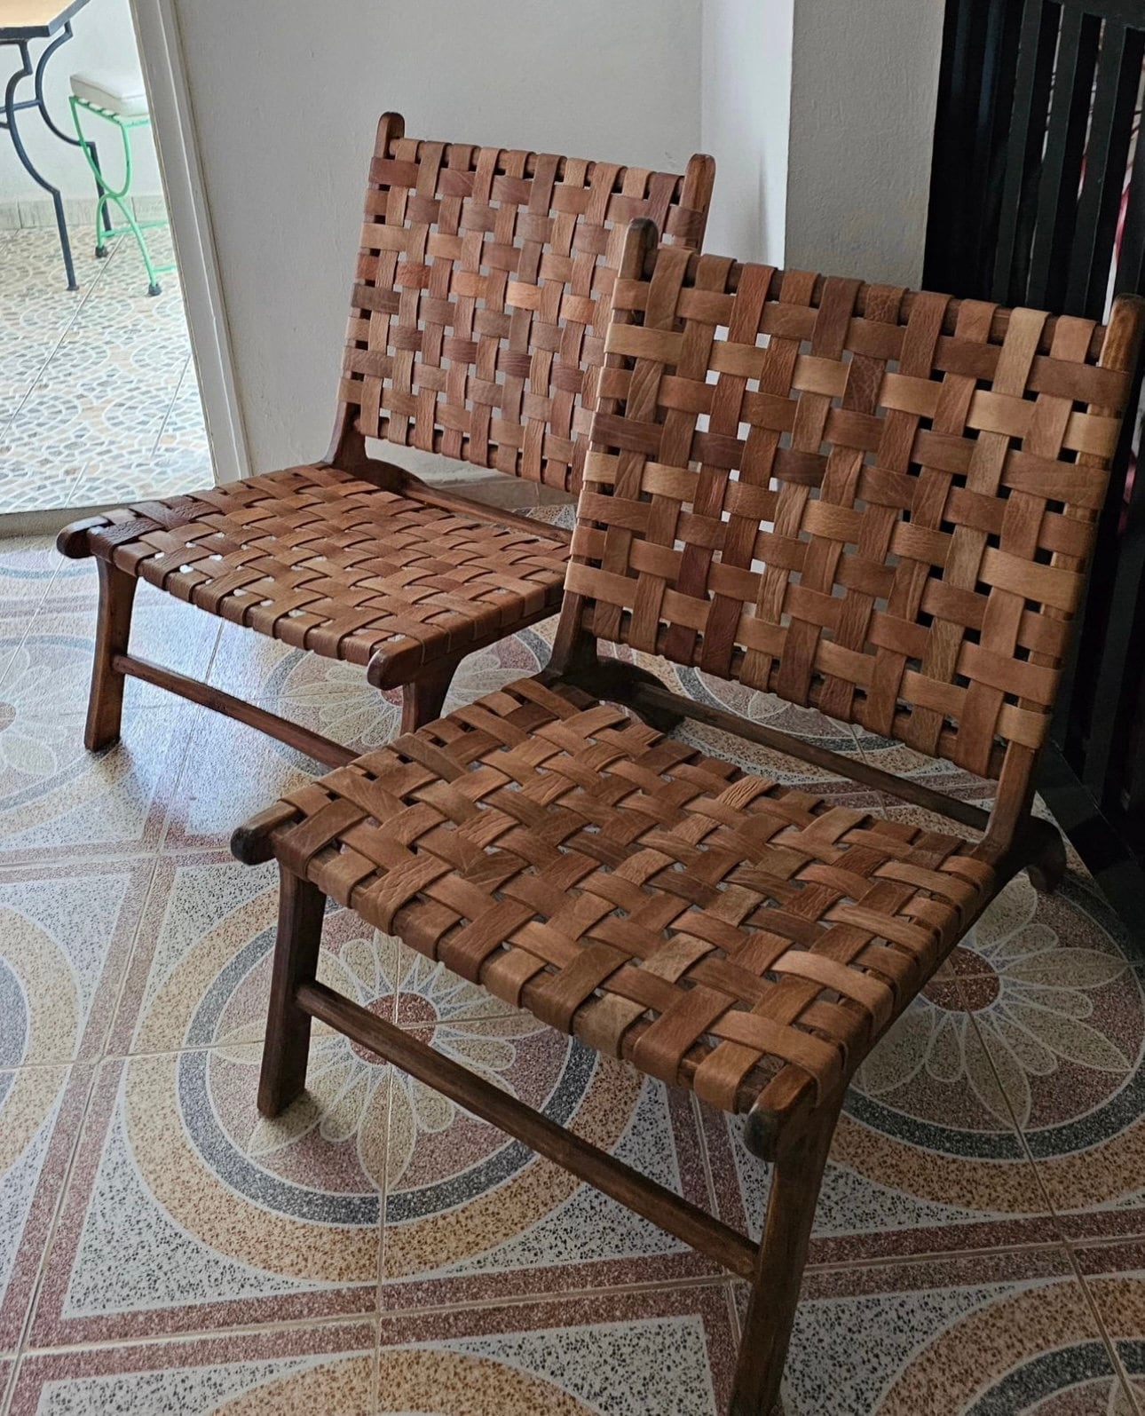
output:
<svg viewBox="0 0 1145 1416"><path fill-rule="evenodd" d="M958 837L747 775L543 675L283 800L296 875L729 1112L849 1076L994 879Z"/></svg>

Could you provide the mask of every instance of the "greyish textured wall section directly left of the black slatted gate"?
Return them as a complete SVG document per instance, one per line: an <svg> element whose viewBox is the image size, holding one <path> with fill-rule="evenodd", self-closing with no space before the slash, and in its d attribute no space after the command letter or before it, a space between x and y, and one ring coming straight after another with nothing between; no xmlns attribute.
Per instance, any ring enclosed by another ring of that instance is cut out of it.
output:
<svg viewBox="0 0 1145 1416"><path fill-rule="evenodd" d="M788 265L921 279L941 40L943 0L795 0Z"/></svg>

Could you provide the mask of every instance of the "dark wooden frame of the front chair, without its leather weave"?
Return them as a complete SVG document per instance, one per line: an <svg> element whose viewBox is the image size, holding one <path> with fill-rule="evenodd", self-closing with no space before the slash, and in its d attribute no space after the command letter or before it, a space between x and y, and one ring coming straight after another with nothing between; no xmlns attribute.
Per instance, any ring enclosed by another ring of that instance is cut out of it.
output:
<svg viewBox="0 0 1145 1416"><path fill-rule="evenodd" d="M617 304L630 312L635 309L633 303L635 283L641 280L648 265L657 259L654 242L655 232L652 229L645 224L634 224L616 297ZM664 259L662 251L660 258ZM720 289L729 292L737 289L743 272L747 272L743 275L744 279L761 279L760 268L732 266L729 269L725 266L718 269L710 265L705 268L703 262L712 262L715 258L699 258L699 261L705 278L712 278L715 273ZM696 258L692 258L692 269L695 269L695 262ZM671 263L678 273L679 262L672 259ZM771 280L773 289L780 289L784 276L774 273ZM641 297L647 296L643 309L644 327L652 331L648 340L652 338L655 330L672 330L674 306L669 303L667 309L660 306L654 309L655 287L652 290L652 295L647 293L647 282L640 290ZM808 303L817 304L822 292L824 283L819 280L814 293L807 290ZM873 300L876 296L878 292L870 299ZM897 293L897 297L902 299L902 292ZM859 306L862 306L862 299L861 293ZM906 296L907 309L910 302L911 297ZM960 306L958 302L951 302L943 316L943 329L953 331L955 327L961 327L958 321L962 316L967 320L978 319L981 323L982 307L971 309L968 304ZM989 316L989 310L986 310L986 316ZM624 319L624 314L614 313L613 333L617 331L617 326L623 326ZM631 320L631 314L627 319ZM1012 319L1009 312L996 312L992 329L996 326L999 334L1005 333L1009 319ZM1145 302L1128 297L1118 299L1114 303L1108 327L1104 331L1094 331L1094 341L1100 347L1100 368L1125 375L1118 384L1122 389L1127 385L1134 387L1132 371L1137 367L1142 321L1145 321ZM1050 338L1053 327L1053 321L1050 321L1045 338ZM1077 327L1074 326L1069 334L1076 344ZM626 344L623 329L610 347L631 353ZM610 368L614 368L623 364L623 360L610 358L609 364ZM814 368L811 372L814 375ZM627 368L618 370L614 378L610 378L606 370L602 402L594 421L594 447L635 446L627 438L621 421L611 416L616 409L616 395L618 392L621 396L627 395L630 416L651 419L651 405L647 402L641 405L643 413L635 409L637 389L640 396L647 399L650 387L648 378L641 379L638 355L635 372L631 371L631 358ZM1107 387L1112 387L1112 384ZM611 402L609 401L610 391ZM1098 418L1115 418L1120 416L1121 409L1094 408L1090 404L1090 412ZM633 433L633 438L635 436ZM1067 466L1091 469L1093 476L1101 479L1104 477L1104 464L1105 459L1083 452L1077 456L1076 463ZM575 539L573 569L570 569L569 582L566 582L553 654L549 668L539 675L541 681L549 687L563 685L583 691L599 701L624 704L638 718L660 731L669 731L682 719L719 728L746 742L781 750L861 786L926 807L979 833L981 840L972 847L969 855L989 868L992 884L984 892L978 906L962 920L965 926L962 933L996 896L998 891L1020 869L1029 871L1036 888L1042 891L1056 888L1064 872L1066 857L1057 828L1032 814L1036 748L1006 741L998 752L991 750L988 767L991 775L998 777L998 796L992 809L985 811L936 792L923 783L899 779L861 760L844 758L777 729L749 722L736 714L696 704L667 690L652 674L617 658L602 656L592 624L592 595L572 588L576 583L576 566L587 564L586 555L592 558L594 554L592 549L585 549L587 538L582 535L582 531L593 521L599 524L600 520L602 514L593 513L592 491L586 479L577 518L579 551L577 539ZM1057 564L1063 564L1060 558ZM1080 596L1080 586L1077 593ZM1049 705L1046 705L1046 712L1047 708ZM950 749L950 743L945 746ZM994 746L998 748L996 739L994 739ZM947 755L955 755L957 750L962 749L950 749ZM965 750L979 752L974 743L968 743ZM426 1085L443 1092L460 1106L501 1127L542 1155L563 1165L580 1180L597 1187L708 1255L730 1273L749 1280L752 1297L735 1375L730 1412L732 1416L759 1416L759 1413L770 1412L778 1399L819 1185L848 1082L863 1056L917 997L917 988L902 991L894 1007L882 1018L880 1027L870 1037L869 1046L852 1062L848 1062L834 1087L819 1089L817 1095L814 1087L805 1085L805 1078L793 1078L795 1069L787 1066L780 1070L752 1106L743 1130L744 1144L749 1151L773 1165L763 1239L760 1245L754 1245L747 1236L735 1232L688 1201L638 1175L621 1161L599 1151L553 1124L545 1116L493 1087L488 1082L435 1054L432 1048L416 1041L402 1028L375 1017L318 983L316 970L324 893L316 884L286 864L290 852L283 848L284 835L297 821L297 816L296 806L289 801L279 803L241 827L232 843L235 855L248 864L277 857L280 865L279 937L259 1086L260 1110L269 1116L277 1114L301 1092L306 1080L307 1046L313 1018L386 1058ZM306 830L311 821L313 818L299 830ZM943 950L943 957L954 942Z"/></svg>

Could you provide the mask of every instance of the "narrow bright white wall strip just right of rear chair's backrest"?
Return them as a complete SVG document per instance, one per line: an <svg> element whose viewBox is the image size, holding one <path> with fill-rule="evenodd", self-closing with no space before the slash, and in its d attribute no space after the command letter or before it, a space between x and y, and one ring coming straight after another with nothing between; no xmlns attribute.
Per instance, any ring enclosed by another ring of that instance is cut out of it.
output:
<svg viewBox="0 0 1145 1416"><path fill-rule="evenodd" d="M705 0L701 147L716 159L706 245L783 265L794 0Z"/></svg>

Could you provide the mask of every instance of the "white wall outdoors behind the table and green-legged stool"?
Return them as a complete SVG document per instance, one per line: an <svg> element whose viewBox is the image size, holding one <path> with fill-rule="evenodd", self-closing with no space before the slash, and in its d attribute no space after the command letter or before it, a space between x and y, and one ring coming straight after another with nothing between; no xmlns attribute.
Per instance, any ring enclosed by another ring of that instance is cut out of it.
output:
<svg viewBox="0 0 1145 1416"><path fill-rule="evenodd" d="M44 42L33 40L33 67ZM11 72L8 65L17 62L17 51L8 48L3 51L3 55L0 78L7 79ZM68 109L71 75L82 72L92 75L119 74L123 69L137 67L139 57L129 0L89 0L89 4L72 20L72 38L55 51L44 71L44 96L48 112L57 125L71 135L72 115ZM31 79L24 79L16 96L21 99L31 98ZM85 197L95 202L95 183L79 149L61 143L35 112L17 115L17 125L28 156L48 181L54 183L65 197ZM109 177L117 184L122 163L119 133L92 118L91 136L100 149L100 161L106 164ZM163 187L150 132L136 132L132 137L132 150L134 163L132 191L140 197L159 195ZM20 166L7 135L0 135L0 202L44 201L51 202L51 198L41 187L35 185ZM7 219L4 225L17 225L17 222Z"/></svg>

